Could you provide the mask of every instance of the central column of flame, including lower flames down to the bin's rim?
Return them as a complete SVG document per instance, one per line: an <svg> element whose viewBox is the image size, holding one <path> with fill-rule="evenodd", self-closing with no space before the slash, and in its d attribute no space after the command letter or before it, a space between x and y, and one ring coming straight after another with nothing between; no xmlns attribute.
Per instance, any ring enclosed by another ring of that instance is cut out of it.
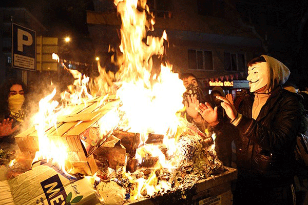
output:
<svg viewBox="0 0 308 205"><path fill-rule="evenodd" d="M167 63L161 64L160 71L152 70L152 56L164 54L167 34L164 31L162 37L147 36L147 31L153 30L155 20L145 0L116 0L114 4L122 20L122 56L117 56L118 61L115 62L119 66L115 75L120 87L117 96L122 100L120 109L128 120L129 131L141 135L141 147L137 149L135 158L141 163L142 158L149 154L158 158L156 169L176 169L180 166L178 158L166 160L158 146L144 145L149 133L162 134L167 155L171 157L181 153L181 146L176 145L174 137L183 123L176 113L183 108L185 87ZM155 170L147 179L134 178L127 173L125 176L138 185L132 191L131 199L171 189L167 181L158 182Z"/></svg>

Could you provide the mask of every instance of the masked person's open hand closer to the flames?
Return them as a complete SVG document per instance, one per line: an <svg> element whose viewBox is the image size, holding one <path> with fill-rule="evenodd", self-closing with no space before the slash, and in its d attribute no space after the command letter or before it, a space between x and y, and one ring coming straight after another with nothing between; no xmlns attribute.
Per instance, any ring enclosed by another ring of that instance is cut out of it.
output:
<svg viewBox="0 0 308 205"><path fill-rule="evenodd" d="M199 104L200 109L200 115L203 117L203 119L210 125L210 126L216 126L219 122L218 120L218 114L217 114L217 107L214 109L209 105L209 103Z"/></svg>

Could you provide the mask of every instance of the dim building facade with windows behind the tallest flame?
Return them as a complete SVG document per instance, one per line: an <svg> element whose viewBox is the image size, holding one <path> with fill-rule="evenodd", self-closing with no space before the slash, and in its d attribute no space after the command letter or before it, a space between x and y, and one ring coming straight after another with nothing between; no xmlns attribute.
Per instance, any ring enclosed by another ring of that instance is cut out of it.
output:
<svg viewBox="0 0 308 205"><path fill-rule="evenodd" d="M94 1L87 24L98 55L107 59L109 45L120 44L120 19L115 6ZM193 73L202 87L209 81L244 80L246 63L263 53L260 39L238 22L238 13L222 0L149 0L156 16L153 35L166 30L166 59L177 73ZM225 89L228 87L225 87Z"/></svg>

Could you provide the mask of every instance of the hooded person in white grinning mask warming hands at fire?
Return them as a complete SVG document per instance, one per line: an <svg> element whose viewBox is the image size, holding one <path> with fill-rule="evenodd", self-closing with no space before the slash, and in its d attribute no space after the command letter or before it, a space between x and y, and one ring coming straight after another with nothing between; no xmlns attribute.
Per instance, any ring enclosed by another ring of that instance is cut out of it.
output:
<svg viewBox="0 0 308 205"><path fill-rule="evenodd" d="M282 89L290 75L277 59L261 55L248 63L249 89L254 100L238 110L225 98L221 106L239 131L235 140L238 179L233 204L295 204L294 147L302 113L297 96ZM199 104L196 98L191 104ZM201 117L217 132L230 132L219 121L217 108L199 104Z"/></svg>

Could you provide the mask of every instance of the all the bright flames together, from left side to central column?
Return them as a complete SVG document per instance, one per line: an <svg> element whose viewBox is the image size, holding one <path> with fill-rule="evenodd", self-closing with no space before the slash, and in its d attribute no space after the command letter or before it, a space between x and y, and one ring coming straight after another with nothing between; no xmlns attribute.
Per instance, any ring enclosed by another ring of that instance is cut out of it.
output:
<svg viewBox="0 0 308 205"><path fill-rule="evenodd" d="M133 200L145 195L152 196L161 190L171 190L171 184L168 181L158 180L157 171L171 173L172 170L180 168L187 155L185 145L194 145L200 137L197 133L193 133L192 135L199 138L187 137L182 141L178 140L187 126L187 121L177 116L177 112L183 108L182 94L185 92L185 87L178 74L172 72L172 66L168 63L163 62L159 71L152 69L152 56L164 54L167 34L164 31L162 37L147 36L147 31L153 30L155 20L146 1L115 0L114 4L117 5L122 20L120 45L122 53L121 56L112 58L117 59L114 63L119 66L119 72L115 75L106 72L98 61L100 76L90 81L90 90L93 95L116 92L117 97L122 101L121 107L111 109L98 121L100 133L106 134L106 131L117 127L121 121L127 124L129 132L140 133L141 143L134 159L139 160L140 163L147 156L158 160L147 178L136 178L130 173L123 173L131 183L137 184L137 187L131 191ZM75 70L69 70L69 72L76 80L74 85L69 87L70 92L62 95L63 99L78 105L85 103L85 98L92 97L86 86L89 78ZM95 88L98 85L102 87ZM56 115L67 111L62 109L61 112L57 112L58 104L52 101L55 92L54 90L40 101L40 112L35 117L37 119L35 128L40 142L40 151L36 153L35 158L52 158L60 161L64 166L67 157L66 147L61 142L52 141L45 133L46 128L56 124L54 121ZM107 95L105 97L107 98ZM106 121L108 124L105 123ZM194 131L189 131L189 133L192 132ZM166 153L163 153L159 146L145 144L149 134L164 136L162 147L167 149ZM201 143L198 146L200 148ZM214 147L212 149L214 150Z"/></svg>

